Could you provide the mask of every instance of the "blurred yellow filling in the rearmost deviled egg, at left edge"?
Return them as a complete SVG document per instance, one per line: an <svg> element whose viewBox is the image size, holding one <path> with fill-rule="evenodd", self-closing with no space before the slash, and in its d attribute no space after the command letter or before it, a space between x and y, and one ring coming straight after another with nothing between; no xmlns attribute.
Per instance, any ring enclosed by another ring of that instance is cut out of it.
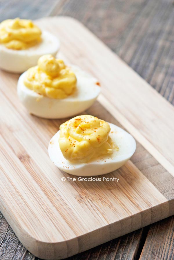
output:
<svg viewBox="0 0 174 260"><path fill-rule="evenodd" d="M0 23L0 44L13 50L24 50L41 41L41 30L26 19L8 19Z"/></svg>

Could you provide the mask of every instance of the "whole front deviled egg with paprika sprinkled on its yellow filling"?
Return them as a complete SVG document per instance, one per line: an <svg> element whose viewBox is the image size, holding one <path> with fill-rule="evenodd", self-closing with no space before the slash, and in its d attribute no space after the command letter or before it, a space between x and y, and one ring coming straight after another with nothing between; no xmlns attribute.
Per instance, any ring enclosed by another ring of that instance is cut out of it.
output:
<svg viewBox="0 0 174 260"><path fill-rule="evenodd" d="M95 176L124 165L135 149L134 138L122 128L92 115L79 115L61 124L48 154L62 171Z"/></svg>

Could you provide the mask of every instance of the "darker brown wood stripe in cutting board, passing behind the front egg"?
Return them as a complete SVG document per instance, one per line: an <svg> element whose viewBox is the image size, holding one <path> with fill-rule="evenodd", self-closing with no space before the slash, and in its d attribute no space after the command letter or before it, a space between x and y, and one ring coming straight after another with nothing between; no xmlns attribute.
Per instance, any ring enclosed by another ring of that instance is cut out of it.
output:
<svg viewBox="0 0 174 260"><path fill-rule="evenodd" d="M88 109L87 113L93 113L99 117L102 111L104 120L109 120L119 127L122 125L115 120L108 112L104 112L101 104L95 104ZM160 165L160 163L140 144L137 142L135 154L131 157L134 165L150 180L150 182L163 194L163 196L170 201L170 210L174 208L174 178L169 172Z"/></svg>

